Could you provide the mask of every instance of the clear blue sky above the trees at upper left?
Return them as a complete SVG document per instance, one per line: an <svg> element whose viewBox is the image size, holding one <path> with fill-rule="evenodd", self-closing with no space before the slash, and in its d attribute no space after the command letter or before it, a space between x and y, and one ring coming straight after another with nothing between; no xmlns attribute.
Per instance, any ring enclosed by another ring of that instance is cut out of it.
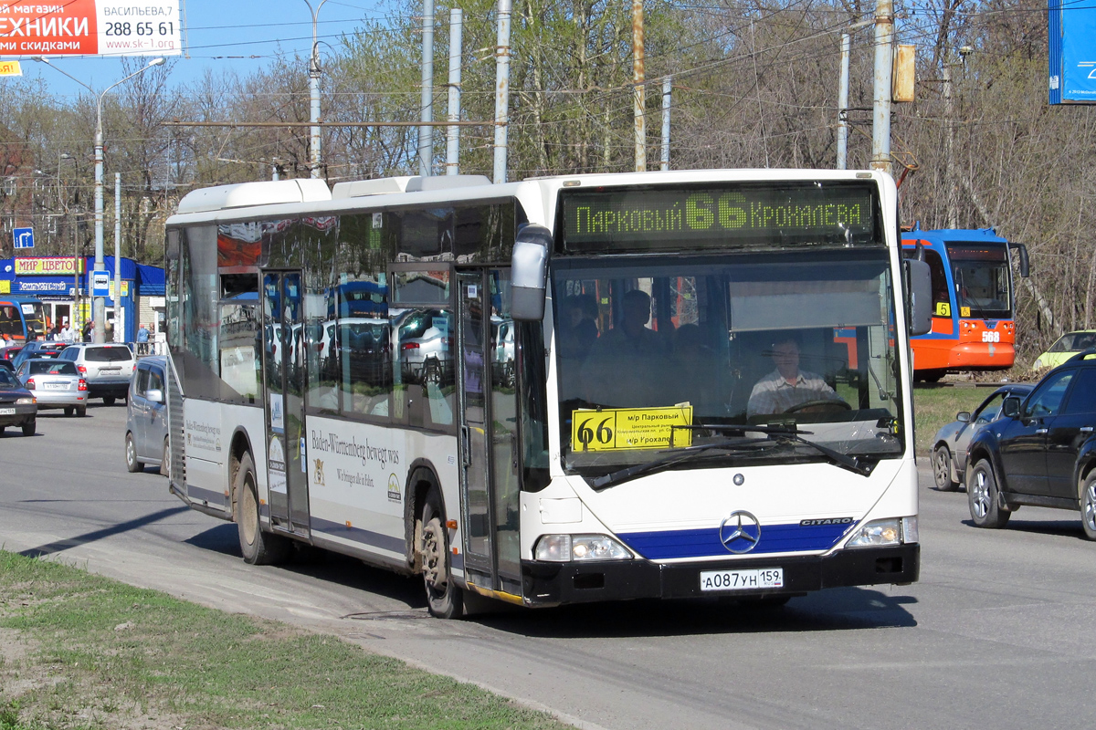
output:
<svg viewBox="0 0 1096 730"><path fill-rule="evenodd" d="M309 0L312 8L321 0ZM181 0L184 53L169 56L172 85L202 78L206 69L247 73L279 54L307 57L312 43L312 13L305 0ZM319 9L317 35L338 45L363 19L381 18L376 0L326 0ZM148 60L151 60L149 58ZM95 90L125 77L122 61L105 57L53 57L49 62ZM59 96L77 97L87 90L45 63L22 59L23 76L41 78Z"/></svg>

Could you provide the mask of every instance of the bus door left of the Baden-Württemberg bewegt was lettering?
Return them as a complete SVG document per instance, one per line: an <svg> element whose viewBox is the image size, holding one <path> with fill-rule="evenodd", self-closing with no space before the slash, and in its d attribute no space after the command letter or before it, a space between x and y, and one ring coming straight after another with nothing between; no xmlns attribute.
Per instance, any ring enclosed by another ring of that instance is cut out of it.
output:
<svg viewBox="0 0 1096 730"><path fill-rule="evenodd" d="M308 537L300 271L263 273L263 376L271 525Z"/></svg>

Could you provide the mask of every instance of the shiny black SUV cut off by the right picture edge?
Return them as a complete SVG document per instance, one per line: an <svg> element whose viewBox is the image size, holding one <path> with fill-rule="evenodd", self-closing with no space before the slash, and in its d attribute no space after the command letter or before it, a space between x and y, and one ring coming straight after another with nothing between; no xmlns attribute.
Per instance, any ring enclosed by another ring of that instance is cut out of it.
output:
<svg viewBox="0 0 1096 730"><path fill-rule="evenodd" d="M1096 349L1051 370L970 444L967 498L980 528L1002 528L1021 505L1080 510L1096 540Z"/></svg>

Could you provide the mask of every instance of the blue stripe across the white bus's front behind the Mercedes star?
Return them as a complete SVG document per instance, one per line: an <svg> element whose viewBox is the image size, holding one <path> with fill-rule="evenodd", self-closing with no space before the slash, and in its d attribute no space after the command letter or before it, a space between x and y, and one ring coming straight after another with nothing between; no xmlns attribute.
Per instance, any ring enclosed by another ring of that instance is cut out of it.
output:
<svg viewBox="0 0 1096 730"><path fill-rule="evenodd" d="M763 553L801 553L827 551L853 524L766 524L761 541L749 555ZM624 532L617 537L649 560L672 558L727 557L731 553L719 542L719 528L704 530L663 530L661 532Z"/></svg>

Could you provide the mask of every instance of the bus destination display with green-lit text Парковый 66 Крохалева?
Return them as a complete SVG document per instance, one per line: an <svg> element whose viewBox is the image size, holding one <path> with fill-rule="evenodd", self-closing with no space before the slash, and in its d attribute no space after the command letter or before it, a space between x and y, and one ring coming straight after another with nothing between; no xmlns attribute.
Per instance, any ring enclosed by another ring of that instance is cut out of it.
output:
<svg viewBox="0 0 1096 730"><path fill-rule="evenodd" d="M739 244L870 244L864 185L575 192L563 196L564 247L658 250Z"/></svg>

